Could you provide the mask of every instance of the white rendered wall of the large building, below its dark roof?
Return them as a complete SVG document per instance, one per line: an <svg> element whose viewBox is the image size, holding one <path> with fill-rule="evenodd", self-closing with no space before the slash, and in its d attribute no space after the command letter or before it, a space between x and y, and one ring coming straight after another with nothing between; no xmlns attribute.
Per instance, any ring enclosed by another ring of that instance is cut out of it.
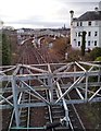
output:
<svg viewBox="0 0 101 131"><path fill-rule="evenodd" d="M80 23L80 22L79 22ZM91 26L88 26L88 21L83 22L83 26L77 26L77 22L73 22L73 25L71 27L71 44L72 47L75 49L80 49L80 46L78 46L78 41L81 44L81 36L78 37L78 33L86 31L86 49L94 48L94 47L101 47L101 21L92 21ZM88 36L88 32L91 32L91 36ZM94 36L94 33L97 32L97 36ZM90 40L90 46L88 45L88 41ZM97 46L94 46L94 41L97 40Z"/></svg>

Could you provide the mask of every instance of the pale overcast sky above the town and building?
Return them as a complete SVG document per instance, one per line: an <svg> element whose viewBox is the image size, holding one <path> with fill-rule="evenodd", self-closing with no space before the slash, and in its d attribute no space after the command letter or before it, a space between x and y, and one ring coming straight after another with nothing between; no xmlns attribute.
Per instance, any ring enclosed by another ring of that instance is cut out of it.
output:
<svg viewBox="0 0 101 131"><path fill-rule="evenodd" d="M89 2L88 2L89 1ZM99 0L0 0L0 20L14 28L70 27L70 11L78 17L98 7Z"/></svg>

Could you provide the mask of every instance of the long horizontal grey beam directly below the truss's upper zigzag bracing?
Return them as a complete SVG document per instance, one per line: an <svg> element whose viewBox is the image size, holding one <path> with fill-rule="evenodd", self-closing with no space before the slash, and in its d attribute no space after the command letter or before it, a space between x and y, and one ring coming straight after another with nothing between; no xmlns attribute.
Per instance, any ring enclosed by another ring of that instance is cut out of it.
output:
<svg viewBox="0 0 101 131"><path fill-rule="evenodd" d="M101 75L99 71L92 71L92 72L61 72L61 73L55 73L51 74L53 79L62 79L62 78L74 78L74 76L83 76L83 75L88 75L88 76L98 76ZM22 74L22 75L16 75L16 81L22 80L22 81L27 81L27 80L34 80L34 79L48 79L49 73L38 73L38 74ZM2 81L11 81L12 75L1 75L0 82Z"/></svg>

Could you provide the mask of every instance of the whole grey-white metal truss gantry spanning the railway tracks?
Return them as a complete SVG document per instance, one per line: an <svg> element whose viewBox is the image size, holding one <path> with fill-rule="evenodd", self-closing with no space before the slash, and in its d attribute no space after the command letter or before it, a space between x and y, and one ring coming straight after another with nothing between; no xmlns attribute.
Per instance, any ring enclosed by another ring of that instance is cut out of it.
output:
<svg viewBox="0 0 101 131"><path fill-rule="evenodd" d="M101 64L79 61L5 66L0 67L0 84L2 86L0 88L0 107L2 109L13 108L17 128L21 124L20 111L25 107L63 105L65 118L70 121L67 104L101 102ZM38 93L42 90L49 91L50 99L46 99ZM53 90L59 94L56 100L53 99ZM76 93L77 98L68 99L67 95L73 92ZM10 95L5 97L4 94L8 93ZM25 102L24 94L34 96L40 102L33 103L30 98Z"/></svg>

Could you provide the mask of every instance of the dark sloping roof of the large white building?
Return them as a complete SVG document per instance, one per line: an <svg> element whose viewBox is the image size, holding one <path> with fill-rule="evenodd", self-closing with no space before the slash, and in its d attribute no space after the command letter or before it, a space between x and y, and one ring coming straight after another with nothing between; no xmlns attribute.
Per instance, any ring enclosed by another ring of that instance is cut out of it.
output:
<svg viewBox="0 0 101 131"><path fill-rule="evenodd" d="M88 11L74 21L96 21L101 20L101 11Z"/></svg>

